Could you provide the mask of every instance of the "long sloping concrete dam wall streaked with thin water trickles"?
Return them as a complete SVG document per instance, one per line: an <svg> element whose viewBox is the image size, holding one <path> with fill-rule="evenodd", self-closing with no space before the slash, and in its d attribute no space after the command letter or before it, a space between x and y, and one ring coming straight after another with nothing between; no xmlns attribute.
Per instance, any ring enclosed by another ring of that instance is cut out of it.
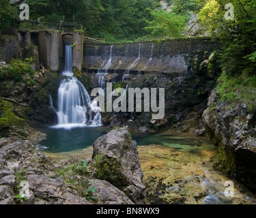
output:
<svg viewBox="0 0 256 218"><path fill-rule="evenodd" d="M190 55L216 47L218 43L210 38L114 44L108 69L184 74ZM110 52L111 44L85 44L83 68L104 69Z"/></svg>

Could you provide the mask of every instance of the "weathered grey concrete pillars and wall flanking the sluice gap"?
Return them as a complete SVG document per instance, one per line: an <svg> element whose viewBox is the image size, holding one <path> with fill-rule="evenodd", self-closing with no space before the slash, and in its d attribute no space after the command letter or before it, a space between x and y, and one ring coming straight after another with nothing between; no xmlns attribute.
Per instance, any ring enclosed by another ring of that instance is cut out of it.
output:
<svg viewBox="0 0 256 218"><path fill-rule="evenodd" d="M69 41L57 30L28 31L9 30L0 35L0 60L10 62L12 59L33 57L35 68L42 63L46 69L59 71L61 57L63 57L63 44L74 44L72 63L79 72L83 66L83 34L70 32ZM31 37L31 35L33 35Z"/></svg>

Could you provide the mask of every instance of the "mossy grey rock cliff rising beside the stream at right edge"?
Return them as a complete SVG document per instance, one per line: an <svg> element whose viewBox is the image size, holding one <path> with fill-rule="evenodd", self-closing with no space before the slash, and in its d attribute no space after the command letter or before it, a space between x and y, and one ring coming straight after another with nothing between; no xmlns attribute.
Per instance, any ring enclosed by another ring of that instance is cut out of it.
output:
<svg viewBox="0 0 256 218"><path fill-rule="evenodd" d="M214 167L256 191L256 115L242 102L231 108L214 90L203 121L212 142L218 144Z"/></svg>

